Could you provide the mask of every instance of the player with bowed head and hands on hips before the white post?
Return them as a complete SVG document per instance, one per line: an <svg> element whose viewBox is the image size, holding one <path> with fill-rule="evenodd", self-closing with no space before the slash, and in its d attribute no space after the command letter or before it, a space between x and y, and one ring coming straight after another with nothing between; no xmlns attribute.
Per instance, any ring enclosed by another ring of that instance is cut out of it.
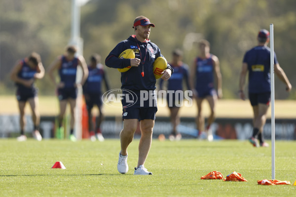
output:
<svg viewBox="0 0 296 197"><path fill-rule="evenodd" d="M66 49L66 54L59 56L49 68L49 76L57 88L58 99L60 102L60 113L58 115L59 122L59 131L64 132L64 128L62 127L63 118L66 112L67 103L70 103L71 108L71 122L70 122L70 139L75 141L76 138L74 136L74 108L76 105L77 98L77 87L83 85L87 76L88 69L85 63L85 60L82 56L75 57L77 49L75 46L68 46ZM80 84L76 84L76 71L77 66L82 68L82 80ZM60 76L60 82L57 83L55 77L53 75L54 70L58 70Z"/></svg>

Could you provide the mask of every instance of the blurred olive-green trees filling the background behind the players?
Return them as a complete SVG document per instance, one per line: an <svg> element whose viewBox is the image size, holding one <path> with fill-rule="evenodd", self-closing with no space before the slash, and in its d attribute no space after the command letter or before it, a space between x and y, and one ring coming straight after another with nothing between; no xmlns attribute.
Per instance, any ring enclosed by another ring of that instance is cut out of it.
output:
<svg viewBox="0 0 296 197"><path fill-rule="evenodd" d="M189 66L197 55L200 38L211 42L211 52L221 63L223 95L236 98L242 58L257 44L260 29L274 24L275 51L292 86L296 46L296 1L294 0L90 0L81 7L81 37L84 57L105 57L121 40L133 34L133 21L147 16L155 28L150 39L169 61L175 48L184 51ZM45 69L64 52L70 39L71 0L0 1L0 91L12 94L8 73L16 60L32 51L40 53ZM120 74L106 68L111 88L120 87ZM48 77L38 82L41 94L53 95ZM276 79L276 99L295 99Z"/></svg>

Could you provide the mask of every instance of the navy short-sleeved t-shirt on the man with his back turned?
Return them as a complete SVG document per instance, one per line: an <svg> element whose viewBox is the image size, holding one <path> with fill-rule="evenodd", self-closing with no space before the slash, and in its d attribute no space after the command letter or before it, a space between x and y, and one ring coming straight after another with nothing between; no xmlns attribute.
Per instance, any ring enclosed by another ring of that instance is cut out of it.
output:
<svg viewBox="0 0 296 197"><path fill-rule="evenodd" d="M248 65L249 93L270 92L270 48L256 46L247 51L243 63ZM274 53L274 64L278 64Z"/></svg>

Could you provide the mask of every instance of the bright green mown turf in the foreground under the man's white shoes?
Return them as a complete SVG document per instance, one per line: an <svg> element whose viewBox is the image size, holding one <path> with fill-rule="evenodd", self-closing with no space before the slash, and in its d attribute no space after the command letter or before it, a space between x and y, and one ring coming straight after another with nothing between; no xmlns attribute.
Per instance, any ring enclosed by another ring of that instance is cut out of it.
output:
<svg viewBox="0 0 296 197"><path fill-rule="evenodd" d="M271 148L254 148L247 141L156 139L145 166L150 176L133 175L138 143L129 146L127 174L117 172L119 139L82 140L0 139L0 196L85 197L292 197L296 186L261 186L271 179ZM276 179L296 180L296 143L276 141ZM67 169L51 169L61 161ZM201 180L210 171L223 176L239 172L248 182Z"/></svg>

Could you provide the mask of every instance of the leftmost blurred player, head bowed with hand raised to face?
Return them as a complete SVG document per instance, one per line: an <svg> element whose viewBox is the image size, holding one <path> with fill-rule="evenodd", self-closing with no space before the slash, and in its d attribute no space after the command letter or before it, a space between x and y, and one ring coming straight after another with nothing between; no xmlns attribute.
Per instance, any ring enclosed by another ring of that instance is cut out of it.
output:
<svg viewBox="0 0 296 197"><path fill-rule="evenodd" d="M27 136L24 133L25 128L25 105L29 102L32 109L32 119L34 123L33 137L38 141L42 140L39 133L40 115L38 112L38 97L35 79L41 79L44 76L44 67L41 63L39 54L33 52L28 58L16 64L11 71L11 79L17 86L16 98L20 110L21 135L17 137L18 141L25 141Z"/></svg>

